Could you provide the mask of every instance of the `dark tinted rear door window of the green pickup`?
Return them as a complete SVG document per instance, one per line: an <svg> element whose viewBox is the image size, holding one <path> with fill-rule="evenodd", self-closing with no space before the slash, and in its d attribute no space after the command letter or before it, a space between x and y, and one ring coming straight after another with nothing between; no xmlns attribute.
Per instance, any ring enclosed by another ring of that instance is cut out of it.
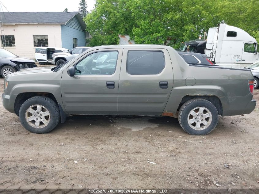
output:
<svg viewBox="0 0 259 194"><path fill-rule="evenodd" d="M128 51L128 74L159 74L164 68L165 59L162 51Z"/></svg>

